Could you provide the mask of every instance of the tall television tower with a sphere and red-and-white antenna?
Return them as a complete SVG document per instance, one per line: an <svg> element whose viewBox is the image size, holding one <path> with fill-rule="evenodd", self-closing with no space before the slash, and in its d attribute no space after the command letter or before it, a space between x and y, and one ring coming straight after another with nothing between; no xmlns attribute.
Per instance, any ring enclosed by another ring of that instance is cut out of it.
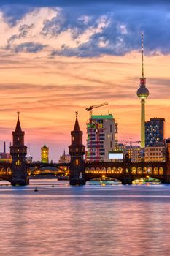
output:
<svg viewBox="0 0 170 256"><path fill-rule="evenodd" d="M137 96L141 99L141 148L145 147L145 99L149 96L149 90L146 87L146 78L144 78L144 34L142 34L142 78L140 78L140 87L137 90Z"/></svg>

